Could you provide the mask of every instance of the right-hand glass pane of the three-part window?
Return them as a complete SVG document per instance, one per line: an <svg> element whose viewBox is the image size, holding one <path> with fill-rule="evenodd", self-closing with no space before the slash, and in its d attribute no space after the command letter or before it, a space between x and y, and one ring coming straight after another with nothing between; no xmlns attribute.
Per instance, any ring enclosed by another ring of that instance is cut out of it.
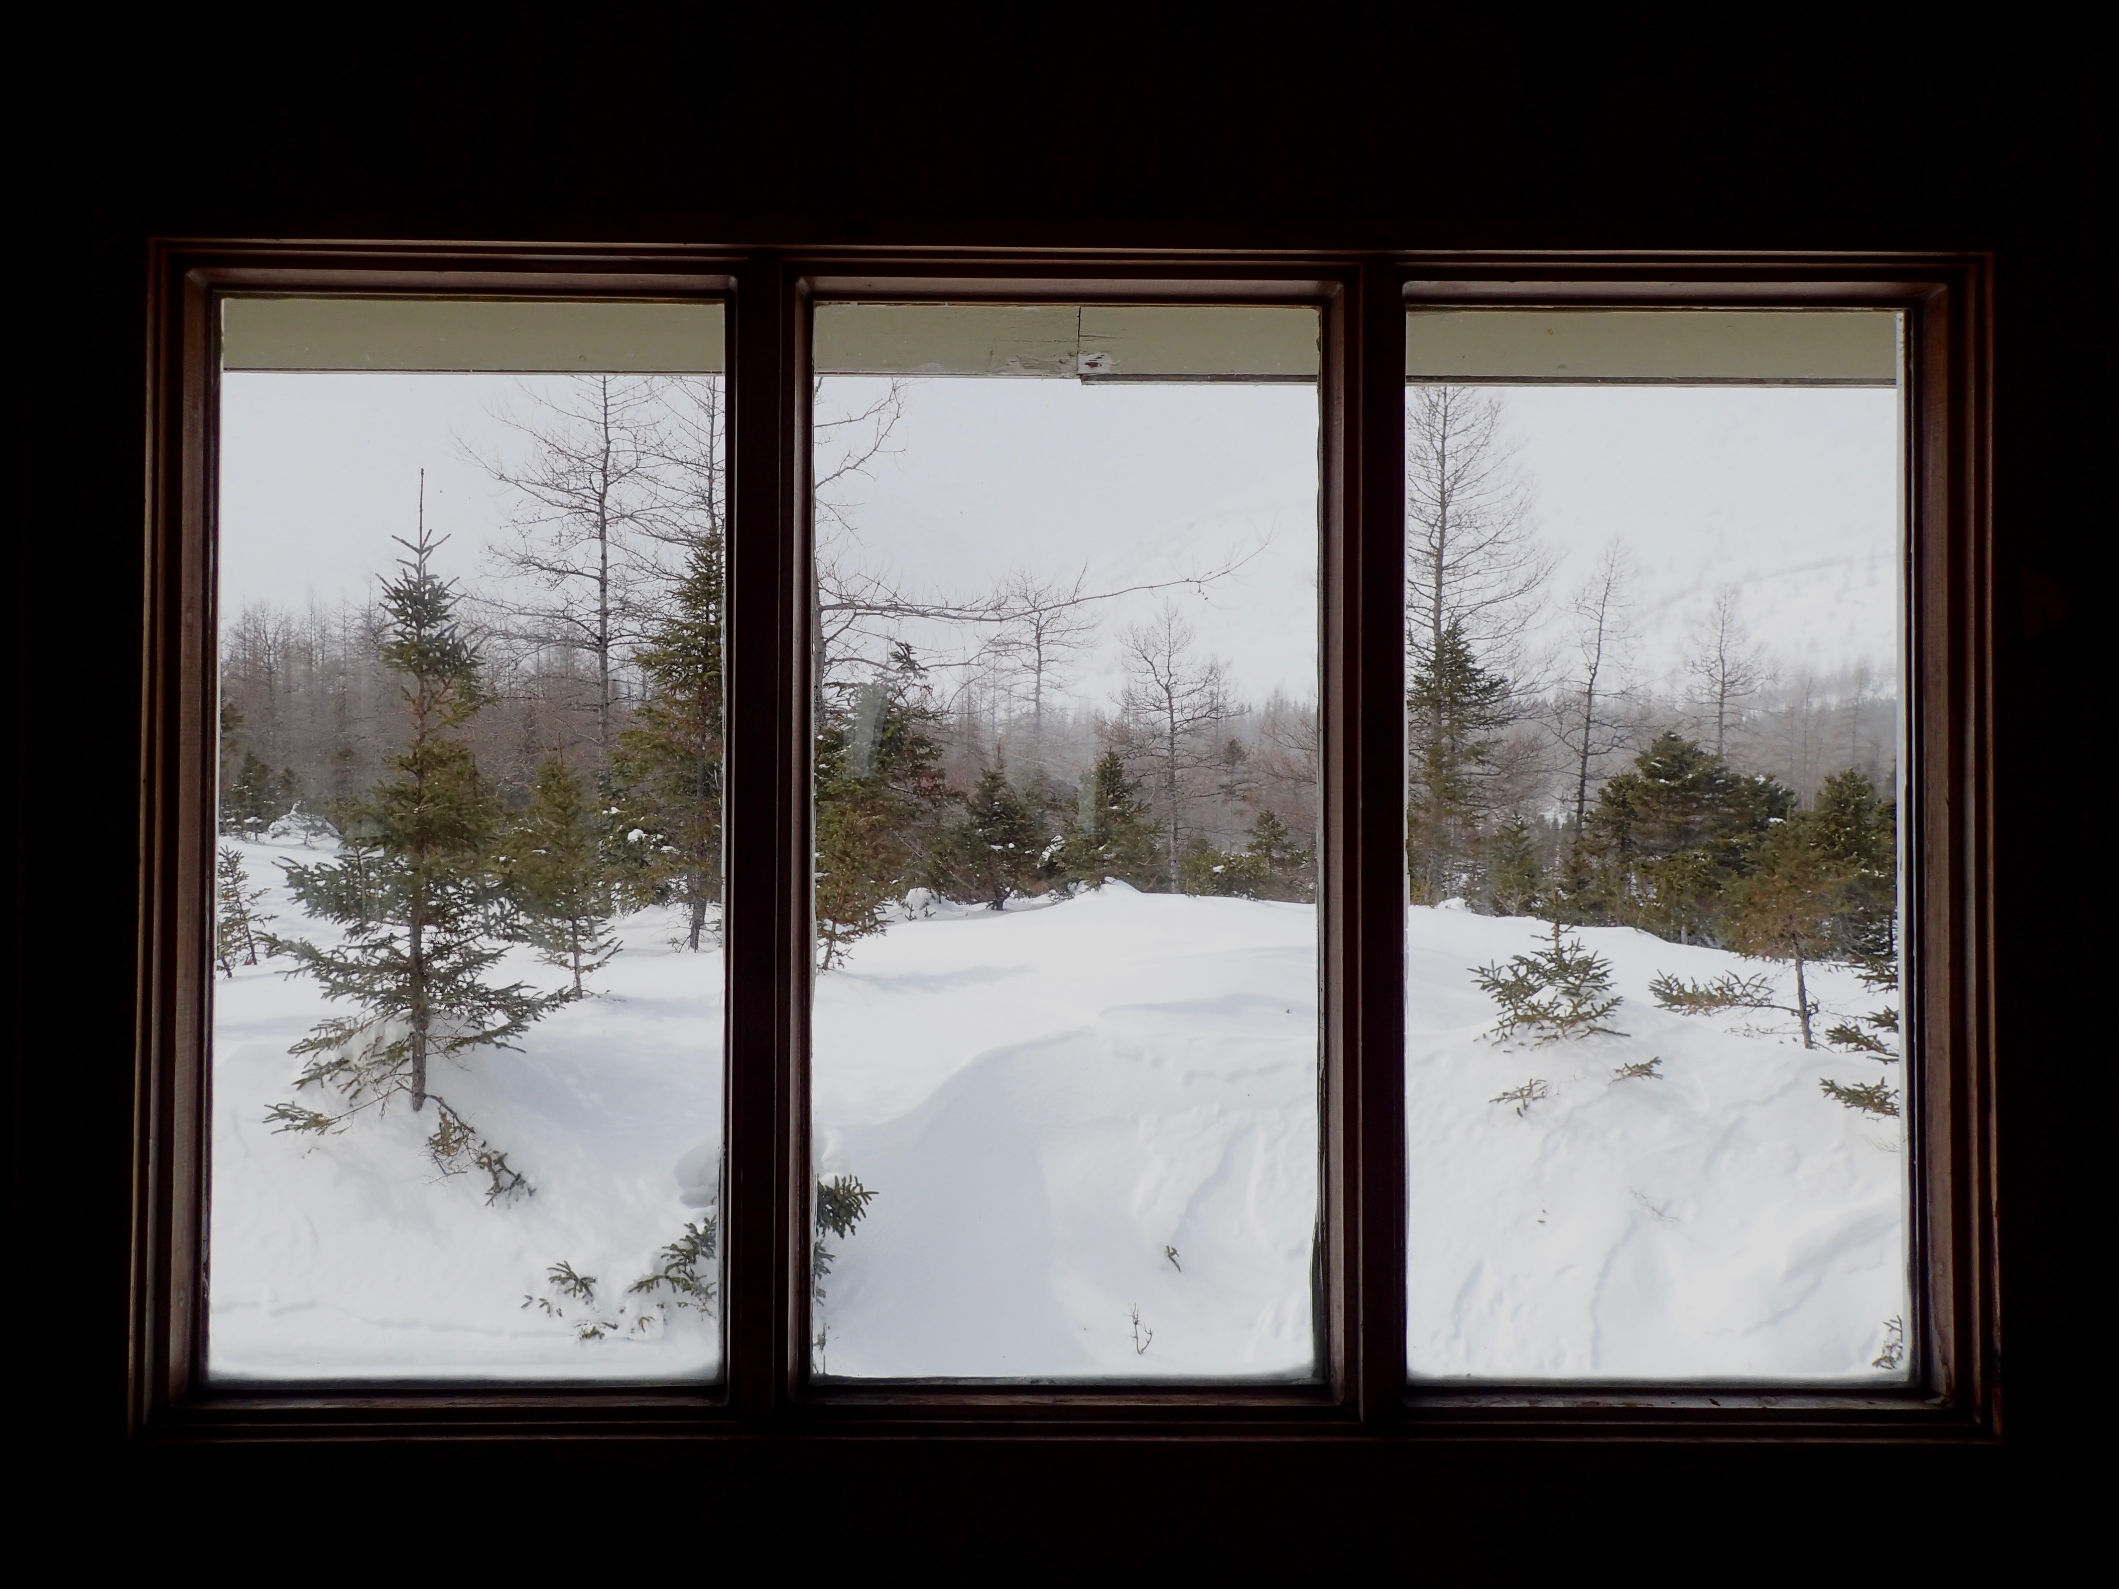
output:
<svg viewBox="0 0 2119 1589"><path fill-rule="evenodd" d="M1411 1373L1903 1379L1897 316L1409 331Z"/></svg>

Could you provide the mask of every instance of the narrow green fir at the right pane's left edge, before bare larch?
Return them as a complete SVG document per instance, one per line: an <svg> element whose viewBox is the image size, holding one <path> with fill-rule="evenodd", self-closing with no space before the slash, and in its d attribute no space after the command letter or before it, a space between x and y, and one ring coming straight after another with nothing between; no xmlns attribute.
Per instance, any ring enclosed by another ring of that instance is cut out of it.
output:
<svg viewBox="0 0 2119 1589"><path fill-rule="evenodd" d="M1515 712L1509 680L1479 665L1464 625L1443 627L1405 695L1405 856L1413 898L1462 894L1479 852L1494 746Z"/></svg>

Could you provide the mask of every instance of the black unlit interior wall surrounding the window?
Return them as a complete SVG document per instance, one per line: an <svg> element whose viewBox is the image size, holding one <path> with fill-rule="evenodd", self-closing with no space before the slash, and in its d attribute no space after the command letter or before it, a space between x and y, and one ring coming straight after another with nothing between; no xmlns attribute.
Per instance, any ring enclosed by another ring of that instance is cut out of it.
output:
<svg viewBox="0 0 2119 1589"><path fill-rule="evenodd" d="M1297 1572L1354 1549L1439 1578L1547 1557L1661 1576L1642 1538L1678 1528L1748 1559L1831 1538L1943 1561L2064 1530L2108 1356L2111 958L2091 958L2108 818L2087 775L2108 754L2087 644L2111 532L2108 38L2034 8L1977 30L1860 8L1500 11L112 13L25 36L0 788L17 1460L83 1494L203 1496L231 1528L322 1487L320 1456L121 1439L148 237L1990 250L1996 1447L932 1449L824 1470L801 1449L576 1451L390 1470L458 1492L504 1470L526 1500L636 1496L663 1521L699 1506L716 1530L790 1523L816 1549L879 1530L939 1564L1028 1540L1043 1564L1108 1551L1115 1570L1235 1547Z"/></svg>

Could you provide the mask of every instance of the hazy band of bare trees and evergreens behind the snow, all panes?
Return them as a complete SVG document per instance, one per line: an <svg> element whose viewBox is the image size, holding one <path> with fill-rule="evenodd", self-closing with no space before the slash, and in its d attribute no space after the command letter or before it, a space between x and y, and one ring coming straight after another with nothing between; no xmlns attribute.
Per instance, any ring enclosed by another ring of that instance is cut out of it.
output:
<svg viewBox="0 0 2119 1589"><path fill-rule="evenodd" d="M822 962L922 898L998 909L1106 877L1310 898L1314 699L1240 697L1244 659L1212 655L1174 602L1112 627L1119 595L1159 587L1017 570L907 589L865 559L848 483L907 400L892 388L818 426ZM1682 676L1640 678L1625 549L1555 589L1502 419L1492 392L1409 392L1411 900L1727 943L1767 839L1820 801L1865 803L1863 867L1890 873L1894 680L1778 661L1735 593L1691 617ZM506 434L481 462L517 511L451 593L479 686L449 735L500 811L536 805L540 780L578 784L593 886L687 907L699 947L720 892L720 383L576 377L526 398ZM411 519L407 481L379 561ZM225 833L337 831L398 775L411 718L392 623L379 593L225 614ZM1532 653L1555 631L1564 644ZM1112 653L1123 691L1083 701L1091 655Z"/></svg>

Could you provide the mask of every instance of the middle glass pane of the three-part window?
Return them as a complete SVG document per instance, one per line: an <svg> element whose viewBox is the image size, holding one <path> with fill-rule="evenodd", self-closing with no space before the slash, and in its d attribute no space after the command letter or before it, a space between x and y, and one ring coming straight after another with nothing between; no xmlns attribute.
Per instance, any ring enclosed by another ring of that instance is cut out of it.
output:
<svg viewBox="0 0 2119 1589"><path fill-rule="evenodd" d="M816 347L812 1362L1307 1377L1316 314Z"/></svg>

